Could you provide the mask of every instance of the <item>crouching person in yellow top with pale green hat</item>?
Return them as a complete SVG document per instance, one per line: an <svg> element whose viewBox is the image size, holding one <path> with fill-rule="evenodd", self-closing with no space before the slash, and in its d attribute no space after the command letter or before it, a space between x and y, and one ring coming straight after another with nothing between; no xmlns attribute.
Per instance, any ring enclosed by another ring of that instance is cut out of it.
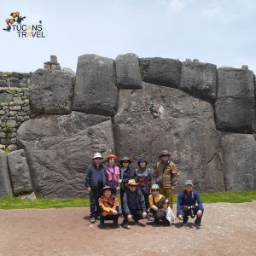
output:
<svg viewBox="0 0 256 256"><path fill-rule="evenodd" d="M153 184L151 187L151 195L149 195L150 209L148 215L154 218L154 224L160 224L160 222L170 225L170 222L166 219L166 210L168 207L168 200L165 195L159 193L160 188L158 184Z"/></svg>

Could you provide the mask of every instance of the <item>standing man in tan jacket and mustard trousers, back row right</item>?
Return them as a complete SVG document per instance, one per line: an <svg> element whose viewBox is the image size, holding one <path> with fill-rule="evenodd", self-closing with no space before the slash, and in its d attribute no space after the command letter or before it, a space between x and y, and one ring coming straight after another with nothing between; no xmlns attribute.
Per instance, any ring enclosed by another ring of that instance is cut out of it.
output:
<svg viewBox="0 0 256 256"><path fill-rule="evenodd" d="M171 154L163 150L159 155L160 161L156 164L153 177L160 186L160 194L165 195L170 207L173 206L173 190L177 184L177 167L170 160Z"/></svg>

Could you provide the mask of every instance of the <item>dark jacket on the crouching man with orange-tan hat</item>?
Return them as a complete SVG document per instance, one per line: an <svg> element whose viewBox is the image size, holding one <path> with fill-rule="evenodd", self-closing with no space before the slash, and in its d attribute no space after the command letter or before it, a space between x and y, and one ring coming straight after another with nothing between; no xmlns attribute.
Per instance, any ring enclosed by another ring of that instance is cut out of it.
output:
<svg viewBox="0 0 256 256"><path fill-rule="evenodd" d="M144 196L141 190L136 189L134 192L127 189L123 199L124 211L127 215L130 215L130 210L142 210L146 212L146 205Z"/></svg>

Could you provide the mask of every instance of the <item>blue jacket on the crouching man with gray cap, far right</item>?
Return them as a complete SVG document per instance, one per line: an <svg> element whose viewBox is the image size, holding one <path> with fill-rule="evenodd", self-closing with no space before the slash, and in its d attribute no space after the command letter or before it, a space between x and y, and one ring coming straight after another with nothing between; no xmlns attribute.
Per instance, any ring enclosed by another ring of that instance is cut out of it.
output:
<svg viewBox="0 0 256 256"><path fill-rule="evenodd" d="M203 211L204 208L202 205L202 201L197 191L194 190L189 193L188 192L186 193L186 191L184 190L182 192L179 192L179 194L177 195L177 215L181 214L182 206L187 206L187 207L195 206L195 203L197 203L198 208L201 211Z"/></svg>

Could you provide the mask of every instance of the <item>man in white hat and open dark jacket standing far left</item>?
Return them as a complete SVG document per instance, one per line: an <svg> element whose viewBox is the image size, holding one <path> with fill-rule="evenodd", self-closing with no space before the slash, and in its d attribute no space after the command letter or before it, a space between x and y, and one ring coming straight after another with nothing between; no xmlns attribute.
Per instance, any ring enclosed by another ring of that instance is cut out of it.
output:
<svg viewBox="0 0 256 256"><path fill-rule="evenodd" d="M102 154L96 153L93 161L87 167L85 177L85 189L90 193L90 223L95 223L96 218L100 216L99 197L103 187L108 185L108 174L102 165Z"/></svg>

